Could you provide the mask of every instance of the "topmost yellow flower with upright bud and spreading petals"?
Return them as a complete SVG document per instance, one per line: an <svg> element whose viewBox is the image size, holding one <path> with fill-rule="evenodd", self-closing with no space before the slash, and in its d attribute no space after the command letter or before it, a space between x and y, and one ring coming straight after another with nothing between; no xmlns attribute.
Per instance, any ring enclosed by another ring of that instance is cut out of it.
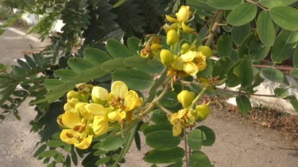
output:
<svg viewBox="0 0 298 167"><path fill-rule="evenodd" d="M194 28L190 28L185 24L187 23L187 21L189 21L189 17L192 16L191 11L189 10L189 6L181 6L179 11L175 15L176 19L169 15L166 15L166 19L170 22L173 22L173 24L171 25L166 23L163 26L166 32L169 32L170 30L177 30L178 28L182 28L185 32L193 32L195 30Z"/></svg>

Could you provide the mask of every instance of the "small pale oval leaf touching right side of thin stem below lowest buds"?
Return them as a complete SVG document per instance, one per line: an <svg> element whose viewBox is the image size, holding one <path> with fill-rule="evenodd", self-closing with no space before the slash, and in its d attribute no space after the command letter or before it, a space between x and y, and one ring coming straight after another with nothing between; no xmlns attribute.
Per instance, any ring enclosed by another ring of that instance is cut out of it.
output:
<svg viewBox="0 0 298 167"><path fill-rule="evenodd" d="M203 133L199 129L193 129L187 134L187 145L193 150L199 150L203 141Z"/></svg>

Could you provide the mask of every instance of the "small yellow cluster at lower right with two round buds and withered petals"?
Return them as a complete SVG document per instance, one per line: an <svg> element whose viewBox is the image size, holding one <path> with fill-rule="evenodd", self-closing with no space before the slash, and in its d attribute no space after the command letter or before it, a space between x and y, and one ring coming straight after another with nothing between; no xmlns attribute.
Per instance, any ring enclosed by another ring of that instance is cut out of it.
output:
<svg viewBox="0 0 298 167"><path fill-rule="evenodd" d="M209 106L206 104L197 105L195 110L192 108L195 100L193 92L183 90L177 95L177 99L184 108L169 117L169 121L173 125L173 136L179 136L182 127L193 127L196 120L203 121L210 114Z"/></svg>

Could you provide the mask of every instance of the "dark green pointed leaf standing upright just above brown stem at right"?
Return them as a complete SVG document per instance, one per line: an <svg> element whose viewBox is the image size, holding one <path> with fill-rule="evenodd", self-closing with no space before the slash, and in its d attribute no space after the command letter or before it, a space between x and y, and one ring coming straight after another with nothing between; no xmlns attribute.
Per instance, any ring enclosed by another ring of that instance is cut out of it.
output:
<svg viewBox="0 0 298 167"><path fill-rule="evenodd" d="M244 57L238 66L235 66L233 74L237 76L242 87L247 87L252 84L253 71L251 62L248 60L247 56Z"/></svg>

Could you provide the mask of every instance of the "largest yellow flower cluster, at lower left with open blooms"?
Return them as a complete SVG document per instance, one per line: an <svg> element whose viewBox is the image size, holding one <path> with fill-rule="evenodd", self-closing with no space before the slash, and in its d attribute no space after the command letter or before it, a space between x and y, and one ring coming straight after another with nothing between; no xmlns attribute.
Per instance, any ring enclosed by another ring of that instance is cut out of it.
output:
<svg viewBox="0 0 298 167"><path fill-rule="evenodd" d="M64 128L61 140L80 149L88 148L94 137L108 132L111 124L118 127L129 123L132 110L143 102L121 81L112 84L110 93L103 87L87 84L78 84L77 88L78 92L67 93L65 113L57 118L57 123Z"/></svg>

